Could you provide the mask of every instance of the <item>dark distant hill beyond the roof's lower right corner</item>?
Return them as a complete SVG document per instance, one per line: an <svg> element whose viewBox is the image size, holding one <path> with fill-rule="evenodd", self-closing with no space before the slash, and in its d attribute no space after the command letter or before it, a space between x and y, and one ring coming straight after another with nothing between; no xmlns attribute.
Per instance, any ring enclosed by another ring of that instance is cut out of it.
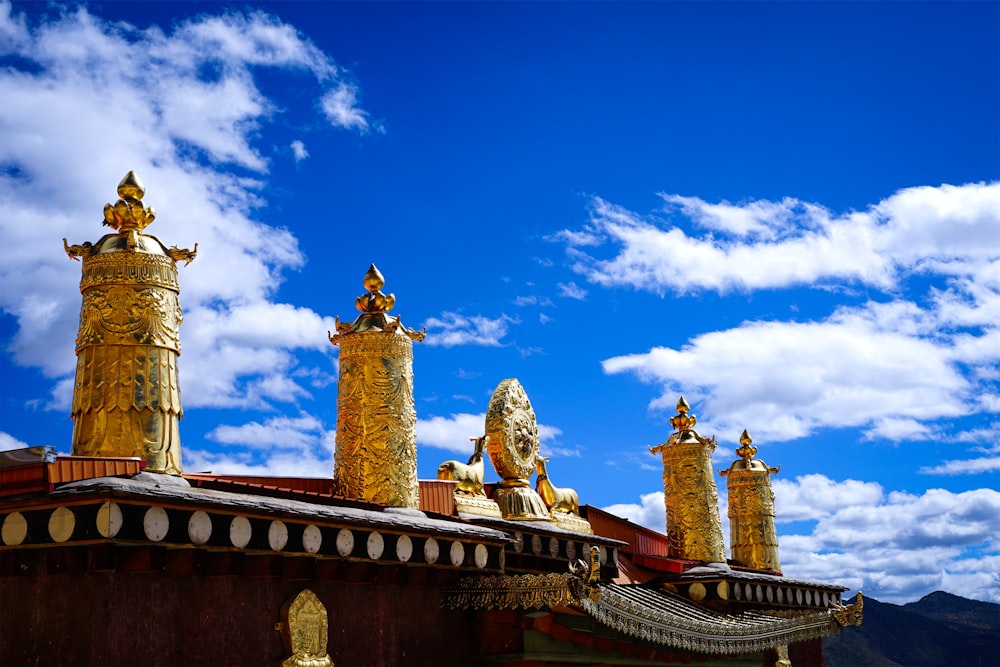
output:
<svg viewBox="0 0 1000 667"><path fill-rule="evenodd" d="M936 591L894 605L865 598L864 624L823 640L827 667L1000 667L1000 604Z"/></svg>

